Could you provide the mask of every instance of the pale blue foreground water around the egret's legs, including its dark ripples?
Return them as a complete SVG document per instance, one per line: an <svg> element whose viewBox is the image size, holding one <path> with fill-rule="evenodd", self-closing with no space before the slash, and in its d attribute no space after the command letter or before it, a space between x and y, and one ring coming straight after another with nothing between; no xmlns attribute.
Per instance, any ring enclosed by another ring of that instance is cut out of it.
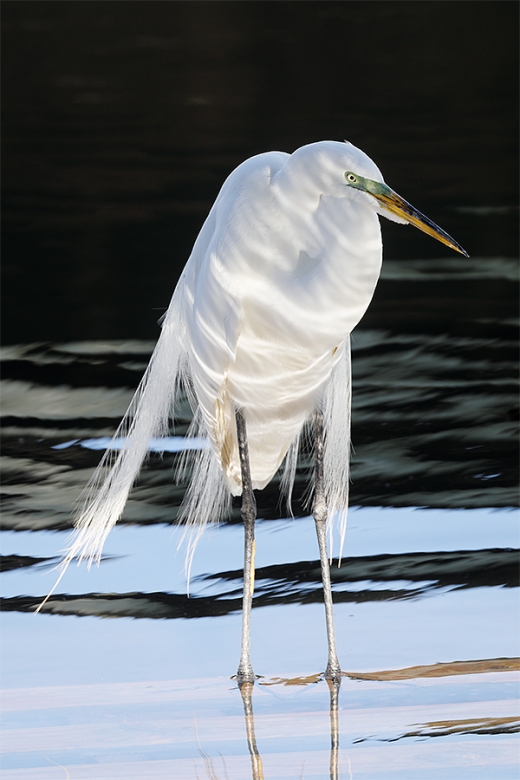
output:
<svg viewBox="0 0 520 780"><path fill-rule="evenodd" d="M319 570L307 563L312 519L258 523L252 648L262 677L249 721L229 679L241 582L228 568L240 565L241 528L203 537L189 600L178 535L117 528L101 567L70 569L67 595L35 616L38 599L17 594L49 587L45 560L64 533L7 533L4 550L25 566L3 575L12 610L3 614L5 777L66 776L57 767L78 778L516 776L516 511L351 512L349 555L333 570L347 675L337 752L319 677L326 640Z"/></svg>

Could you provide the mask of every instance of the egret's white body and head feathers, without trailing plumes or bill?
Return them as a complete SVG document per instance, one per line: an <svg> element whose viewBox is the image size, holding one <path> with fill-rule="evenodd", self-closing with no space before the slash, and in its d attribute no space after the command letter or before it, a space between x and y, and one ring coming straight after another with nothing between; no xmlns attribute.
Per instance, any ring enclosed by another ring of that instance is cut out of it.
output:
<svg viewBox="0 0 520 780"><path fill-rule="evenodd" d="M345 339L372 297L381 266L377 217L338 197L334 185L345 193L344 170L354 162L380 176L360 152L333 142L239 166L177 289L195 395L234 495L241 492L235 407L247 423L253 487L261 489L346 359Z"/></svg>

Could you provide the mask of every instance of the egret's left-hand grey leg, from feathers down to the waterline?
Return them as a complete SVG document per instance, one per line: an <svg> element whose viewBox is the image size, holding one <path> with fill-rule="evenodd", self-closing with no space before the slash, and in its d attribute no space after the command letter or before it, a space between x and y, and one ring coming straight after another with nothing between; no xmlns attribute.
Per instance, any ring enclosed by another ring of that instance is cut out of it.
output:
<svg viewBox="0 0 520 780"><path fill-rule="evenodd" d="M238 450L240 454L240 469L242 474L242 522L244 523L244 591L242 597L242 648L240 664L237 672L239 688L244 683L254 683L255 674L251 666L250 635L251 635L251 604L255 585L255 520L256 501L251 483L249 452L247 447L247 431L244 415L235 412L237 423Z"/></svg>

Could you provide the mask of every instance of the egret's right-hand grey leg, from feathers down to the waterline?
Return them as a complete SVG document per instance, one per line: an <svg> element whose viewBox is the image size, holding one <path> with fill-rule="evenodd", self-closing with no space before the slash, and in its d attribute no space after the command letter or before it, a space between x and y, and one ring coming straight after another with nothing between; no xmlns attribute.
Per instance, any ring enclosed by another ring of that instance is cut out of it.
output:
<svg viewBox="0 0 520 780"><path fill-rule="evenodd" d="M316 412L314 418L315 437L315 474L314 474L314 504L312 512L316 523L316 535L320 548L321 579L323 582L323 597L325 601L325 617L327 620L327 642L329 656L325 678L339 683L341 667L336 653L336 635L334 632L334 612L332 608L332 590L330 586L330 566L327 554L327 502L325 500L325 485L323 480L323 415Z"/></svg>

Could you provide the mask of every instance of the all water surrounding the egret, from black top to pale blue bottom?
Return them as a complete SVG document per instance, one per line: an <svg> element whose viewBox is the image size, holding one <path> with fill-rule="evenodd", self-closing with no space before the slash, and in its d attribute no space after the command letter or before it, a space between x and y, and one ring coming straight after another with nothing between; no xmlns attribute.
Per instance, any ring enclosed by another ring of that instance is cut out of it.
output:
<svg viewBox="0 0 520 780"><path fill-rule="evenodd" d="M6 778L261 776L228 679L239 506L188 597L182 439L151 453L101 567L31 613L223 179L344 137L471 258L385 223L353 336L335 770L308 456L294 520L276 480L258 494L265 777L516 777L518 6L10 2L2 23Z"/></svg>

